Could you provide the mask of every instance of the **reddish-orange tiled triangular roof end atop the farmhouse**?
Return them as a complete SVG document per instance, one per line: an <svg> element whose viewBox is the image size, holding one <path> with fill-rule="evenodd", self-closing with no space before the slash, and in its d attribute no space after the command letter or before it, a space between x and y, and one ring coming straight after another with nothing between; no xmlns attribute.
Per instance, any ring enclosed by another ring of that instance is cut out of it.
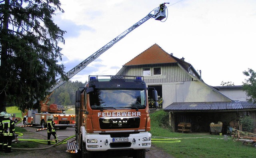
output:
<svg viewBox="0 0 256 158"><path fill-rule="evenodd" d="M177 63L170 54L166 53L159 45L154 44L138 56L134 57L131 61L124 66L129 65L144 65L144 64L157 64L157 63Z"/></svg>

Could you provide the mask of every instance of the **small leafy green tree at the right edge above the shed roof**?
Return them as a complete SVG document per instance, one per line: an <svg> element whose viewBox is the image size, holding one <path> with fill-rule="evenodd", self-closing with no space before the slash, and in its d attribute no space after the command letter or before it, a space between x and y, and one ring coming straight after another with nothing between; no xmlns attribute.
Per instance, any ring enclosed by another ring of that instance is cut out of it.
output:
<svg viewBox="0 0 256 158"><path fill-rule="evenodd" d="M243 90L246 92L246 95L250 97L248 101L256 103L256 72L252 69L248 69L248 71L243 71L243 73L249 77L243 82Z"/></svg>

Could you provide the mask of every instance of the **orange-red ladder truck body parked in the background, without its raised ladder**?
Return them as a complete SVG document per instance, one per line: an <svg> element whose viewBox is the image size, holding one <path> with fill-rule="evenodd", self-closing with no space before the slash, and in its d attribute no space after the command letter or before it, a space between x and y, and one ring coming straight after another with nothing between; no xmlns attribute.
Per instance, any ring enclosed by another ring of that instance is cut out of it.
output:
<svg viewBox="0 0 256 158"><path fill-rule="evenodd" d="M55 122L55 127L66 129L67 127L75 126L75 114L66 114L65 108L62 105L47 105L53 93L54 91L52 91L50 95L47 95L44 101L40 101L40 113L38 113L37 109L31 109L23 114L23 116L26 117L26 124L24 125L40 125L42 128L44 128L48 117L52 115L53 121Z"/></svg>

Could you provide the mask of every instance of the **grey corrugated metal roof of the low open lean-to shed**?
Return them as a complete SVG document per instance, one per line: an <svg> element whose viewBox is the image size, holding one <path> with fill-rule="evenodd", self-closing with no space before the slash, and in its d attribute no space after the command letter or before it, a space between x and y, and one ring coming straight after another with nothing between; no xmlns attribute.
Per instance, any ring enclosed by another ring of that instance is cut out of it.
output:
<svg viewBox="0 0 256 158"><path fill-rule="evenodd" d="M186 102L172 103L164 111L210 111L210 110L235 110L255 109L256 104L247 101L240 102Z"/></svg>

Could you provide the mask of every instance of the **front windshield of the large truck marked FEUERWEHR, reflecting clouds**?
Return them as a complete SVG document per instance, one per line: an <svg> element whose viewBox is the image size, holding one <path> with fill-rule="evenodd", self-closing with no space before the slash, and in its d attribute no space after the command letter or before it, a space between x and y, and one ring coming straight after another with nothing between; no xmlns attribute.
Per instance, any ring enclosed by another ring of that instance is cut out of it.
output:
<svg viewBox="0 0 256 158"><path fill-rule="evenodd" d="M94 89L90 93L92 109L131 107L145 109L146 93L144 90L102 90Z"/></svg>

